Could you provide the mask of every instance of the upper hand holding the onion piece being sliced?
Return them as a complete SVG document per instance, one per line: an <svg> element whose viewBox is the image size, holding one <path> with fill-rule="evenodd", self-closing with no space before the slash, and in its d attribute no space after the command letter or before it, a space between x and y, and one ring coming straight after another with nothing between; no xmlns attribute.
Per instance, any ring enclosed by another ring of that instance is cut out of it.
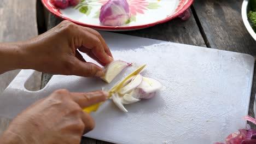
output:
<svg viewBox="0 0 256 144"><path fill-rule="evenodd" d="M103 69L88 63L77 51L86 53L101 65L113 61L113 56L101 35L94 29L62 21L50 31L20 43L26 57L25 69L44 73L103 76ZM25 63L24 62L24 63Z"/></svg>

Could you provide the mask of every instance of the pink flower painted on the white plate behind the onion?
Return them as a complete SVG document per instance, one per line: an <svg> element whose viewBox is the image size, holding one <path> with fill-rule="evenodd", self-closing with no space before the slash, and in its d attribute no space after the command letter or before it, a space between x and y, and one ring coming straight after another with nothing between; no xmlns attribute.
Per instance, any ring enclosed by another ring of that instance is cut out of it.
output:
<svg viewBox="0 0 256 144"><path fill-rule="evenodd" d="M100 3L105 4L107 0L103 0ZM144 10L148 10L148 2L146 0L127 0L130 6L131 15L144 14Z"/></svg>

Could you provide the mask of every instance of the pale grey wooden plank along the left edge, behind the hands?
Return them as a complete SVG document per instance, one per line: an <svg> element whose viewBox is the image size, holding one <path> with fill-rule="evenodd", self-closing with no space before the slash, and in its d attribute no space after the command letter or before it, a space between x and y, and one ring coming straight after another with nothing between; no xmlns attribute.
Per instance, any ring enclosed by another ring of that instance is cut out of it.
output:
<svg viewBox="0 0 256 144"><path fill-rule="evenodd" d="M9 1L0 2L0 43L26 40L36 36L36 1ZM0 75L0 92L14 79L19 70ZM0 118L0 135L7 128L10 119Z"/></svg>

